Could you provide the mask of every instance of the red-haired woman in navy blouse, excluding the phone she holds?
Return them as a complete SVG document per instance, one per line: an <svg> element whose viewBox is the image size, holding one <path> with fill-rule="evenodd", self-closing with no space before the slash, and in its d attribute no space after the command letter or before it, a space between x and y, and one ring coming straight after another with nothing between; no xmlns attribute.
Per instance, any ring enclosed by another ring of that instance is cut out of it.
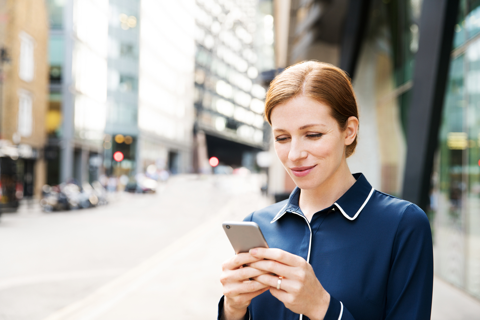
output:
<svg viewBox="0 0 480 320"><path fill-rule="evenodd" d="M350 173L359 117L344 72L315 61L287 68L270 85L265 117L297 188L245 218L274 249L223 263L218 318L430 319L428 219Z"/></svg>

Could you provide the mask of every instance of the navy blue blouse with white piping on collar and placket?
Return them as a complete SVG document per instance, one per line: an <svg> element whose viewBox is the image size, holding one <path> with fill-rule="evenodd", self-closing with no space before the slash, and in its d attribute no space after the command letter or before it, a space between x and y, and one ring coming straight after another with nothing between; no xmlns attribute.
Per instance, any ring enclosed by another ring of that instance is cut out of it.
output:
<svg viewBox="0 0 480 320"><path fill-rule="evenodd" d="M248 215L270 248L303 257L330 294L324 320L427 320L432 309L432 233L415 204L374 190L361 174L334 205L309 223L300 189L288 200ZM218 319L223 297L218 304ZM256 296L245 319L308 319L269 291Z"/></svg>

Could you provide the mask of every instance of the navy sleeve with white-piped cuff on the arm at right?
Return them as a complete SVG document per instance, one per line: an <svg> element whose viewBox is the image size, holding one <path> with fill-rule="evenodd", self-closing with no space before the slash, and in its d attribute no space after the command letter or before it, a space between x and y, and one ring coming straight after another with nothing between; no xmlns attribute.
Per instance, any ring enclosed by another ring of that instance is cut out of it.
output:
<svg viewBox="0 0 480 320"><path fill-rule="evenodd" d="M385 292L384 320L430 319L433 289L432 231L427 215L410 204L398 225ZM354 320L348 306L330 296L324 320Z"/></svg>

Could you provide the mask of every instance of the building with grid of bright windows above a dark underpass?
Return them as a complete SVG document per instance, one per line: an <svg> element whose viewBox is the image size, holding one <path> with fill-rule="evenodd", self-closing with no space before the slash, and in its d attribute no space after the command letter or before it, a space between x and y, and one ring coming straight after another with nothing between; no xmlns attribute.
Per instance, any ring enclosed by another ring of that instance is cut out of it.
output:
<svg viewBox="0 0 480 320"><path fill-rule="evenodd" d="M254 154L267 145L259 74L275 69L271 6L264 0L197 0L195 130L202 136L197 144L201 149L206 139L208 157L224 165L253 169ZM202 171L198 160L196 169Z"/></svg>

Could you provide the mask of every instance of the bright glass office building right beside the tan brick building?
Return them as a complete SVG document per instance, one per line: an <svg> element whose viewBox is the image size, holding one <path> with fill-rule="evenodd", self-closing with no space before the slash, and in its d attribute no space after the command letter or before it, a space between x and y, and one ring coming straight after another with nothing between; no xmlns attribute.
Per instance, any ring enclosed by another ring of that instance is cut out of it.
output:
<svg viewBox="0 0 480 320"><path fill-rule="evenodd" d="M50 0L48 8L48 184L91 182L107 117L108 0Z"/></svg>

